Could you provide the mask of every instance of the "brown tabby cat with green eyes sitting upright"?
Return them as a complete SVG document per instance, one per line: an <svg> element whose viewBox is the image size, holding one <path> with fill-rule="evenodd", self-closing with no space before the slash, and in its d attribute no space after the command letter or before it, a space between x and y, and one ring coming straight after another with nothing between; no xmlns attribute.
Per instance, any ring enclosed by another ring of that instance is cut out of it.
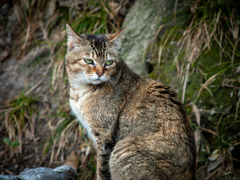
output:
<svg viewBox="0 0 240 180"><path fill-rule="evenodd" d="M135 74L120 34L77 34L69 25L65 65L70 106L97 150L97 179L195 179L189 119L174 92Z"/></svg>

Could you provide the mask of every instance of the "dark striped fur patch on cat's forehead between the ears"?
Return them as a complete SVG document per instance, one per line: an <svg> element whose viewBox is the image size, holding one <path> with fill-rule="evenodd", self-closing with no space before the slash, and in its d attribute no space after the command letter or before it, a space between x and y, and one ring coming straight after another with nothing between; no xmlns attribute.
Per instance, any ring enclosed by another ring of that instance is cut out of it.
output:
<svg viewBox="0 0 240 180"><path fill-rule="evenodd" d="M97 56L104 57L106 47L107 47L107 41L105 35L94 35L94 34L88 34L87 40L90 42L91 47L96 52Z"/></svg>

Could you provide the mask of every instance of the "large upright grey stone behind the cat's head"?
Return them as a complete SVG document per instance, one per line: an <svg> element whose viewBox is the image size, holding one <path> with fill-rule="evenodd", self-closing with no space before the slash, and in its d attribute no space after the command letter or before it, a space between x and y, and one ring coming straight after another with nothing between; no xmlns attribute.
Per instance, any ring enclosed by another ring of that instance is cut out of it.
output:
<svg viewBox="0 0 240 180"><path fill-rule="evenodd" d="M121 56L138 74L146 74L145 54L163 20L174 13L176 0L138 0L123 27Z"/></svg>

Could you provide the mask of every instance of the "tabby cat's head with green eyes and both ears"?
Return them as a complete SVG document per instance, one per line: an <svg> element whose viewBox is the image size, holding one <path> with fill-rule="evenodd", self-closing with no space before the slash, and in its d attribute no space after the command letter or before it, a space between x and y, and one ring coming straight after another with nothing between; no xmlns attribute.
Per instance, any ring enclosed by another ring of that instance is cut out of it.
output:
<svg viewBox="0 0 240 180"><path fill-rule="evenodd" d="M122 30L115 34L78 35L69 25L66 28L68 50L65 58L70 82L111 82L121 63L118 49Z"/></svg>

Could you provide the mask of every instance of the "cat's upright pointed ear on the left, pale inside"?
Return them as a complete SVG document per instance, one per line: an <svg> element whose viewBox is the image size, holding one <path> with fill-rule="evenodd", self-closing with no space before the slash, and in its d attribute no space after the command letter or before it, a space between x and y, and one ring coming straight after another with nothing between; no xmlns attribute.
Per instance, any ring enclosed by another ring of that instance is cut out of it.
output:
<svg viewBox="0 0 240 180"><path fill-rule="evenodd" d="M82 37L80 37L68 24L66 24L66 29L68 50L71 51L75 47L80 47L84 41Z"/></svg>

